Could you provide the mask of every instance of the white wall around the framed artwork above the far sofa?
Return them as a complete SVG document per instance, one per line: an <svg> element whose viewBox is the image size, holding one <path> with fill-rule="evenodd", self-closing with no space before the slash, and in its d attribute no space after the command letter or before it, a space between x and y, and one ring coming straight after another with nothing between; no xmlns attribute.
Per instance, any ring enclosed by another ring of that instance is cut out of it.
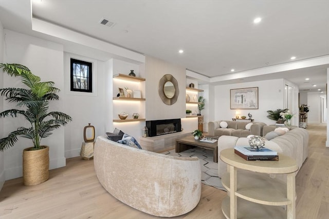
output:
<svg viewBox="0 0 329 219"><path fill-rule="evenodd" d="M240 115L248 117L252 114L255 122L267 125L275 124L266 116L267 110L283 109L284 106L284 80L275 79L259 82L248 82L230 85L218 85L214 88L214 120L232 120L236 109L230 109L230 89L258 87L259 109L239 109ZM294 125L294 124L293 124Z"/></svg>

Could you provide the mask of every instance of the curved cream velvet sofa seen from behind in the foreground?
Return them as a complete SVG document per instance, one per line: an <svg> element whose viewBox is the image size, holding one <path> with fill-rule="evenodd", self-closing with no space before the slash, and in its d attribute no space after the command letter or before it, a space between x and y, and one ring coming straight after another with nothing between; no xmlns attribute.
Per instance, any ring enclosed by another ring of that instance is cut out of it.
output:
<svg viewBox="0 0 329 219"><path fill-rule="evenodd" d="M196 207L201 195L197 157L175 157L145 151L97 137L95 171L114 197L140 211L172 217Z"/></svg>

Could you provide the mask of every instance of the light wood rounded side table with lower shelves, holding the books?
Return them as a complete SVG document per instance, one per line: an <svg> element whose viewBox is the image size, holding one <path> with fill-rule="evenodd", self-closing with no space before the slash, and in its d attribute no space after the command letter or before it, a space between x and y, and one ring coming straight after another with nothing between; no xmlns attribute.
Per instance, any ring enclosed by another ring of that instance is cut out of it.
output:
<svg viewBox="0 0 329 219"><path fill-rule="evenodd" d="M222 202L226 218L296 218L298 166L293 158L279 153L279 161L246 161L233 148L222 150L220 158L228 164L228 173L222 177L228 191ZM270 178L269 173L287 174L287 182Z"/></svg>

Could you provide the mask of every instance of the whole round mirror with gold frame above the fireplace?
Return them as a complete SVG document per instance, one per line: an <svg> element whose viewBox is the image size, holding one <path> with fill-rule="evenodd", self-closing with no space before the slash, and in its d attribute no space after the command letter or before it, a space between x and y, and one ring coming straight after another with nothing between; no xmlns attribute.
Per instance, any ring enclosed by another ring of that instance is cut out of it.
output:
<svg viewBox="0 0 329 219"><path fill-rule="evenodd" d="M162 102L167 105L176 103L179 89L177 80L171 74L165 74L159 82L159 95Z"/></svg>

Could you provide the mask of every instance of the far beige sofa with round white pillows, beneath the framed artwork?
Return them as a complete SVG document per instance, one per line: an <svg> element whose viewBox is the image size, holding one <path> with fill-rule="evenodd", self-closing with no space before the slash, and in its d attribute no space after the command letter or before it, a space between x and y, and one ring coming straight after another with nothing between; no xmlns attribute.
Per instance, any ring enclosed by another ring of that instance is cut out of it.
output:
<svg viewBox="0 0 329 219"><path fill-rule="evenodd" d="M228 124L227 128L221 127L221 122L226 122ZM251 123L250 129L246 129L246 126ZM263 126L265 123L256 122L237 122L237 121L211 121L208 123L208 135L210 136L236 136L236 137L247 137L250 134L253 135L263 135Z"/></svg>

